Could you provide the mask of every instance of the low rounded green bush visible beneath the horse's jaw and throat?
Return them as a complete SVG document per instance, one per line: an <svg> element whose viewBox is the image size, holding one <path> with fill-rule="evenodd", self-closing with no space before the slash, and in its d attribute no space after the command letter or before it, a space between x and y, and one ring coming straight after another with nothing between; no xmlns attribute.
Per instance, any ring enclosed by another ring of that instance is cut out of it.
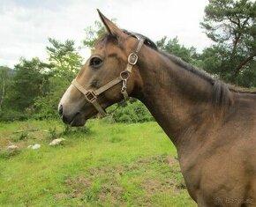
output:
<svg viewBox="0 0 256 207"><path fill-rule="evenodd" d="M154 121L153 116L139 100L129 101L125 107L118 107L112 115L115 122L150 122Z"/></svg>

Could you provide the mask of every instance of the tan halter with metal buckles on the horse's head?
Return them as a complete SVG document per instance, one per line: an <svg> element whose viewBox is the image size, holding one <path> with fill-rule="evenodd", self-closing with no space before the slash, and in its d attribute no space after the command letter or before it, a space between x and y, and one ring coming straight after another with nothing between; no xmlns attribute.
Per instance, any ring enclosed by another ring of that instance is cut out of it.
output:
<svg viewBox="0 0 256 207"><path fill-rule="evenodd" d="M74 85L79 90L79 92L82 92L84 94L86 100L89 101L91 104L93 104L94 107L98 110L98 112L102 116L107 115L105 110L102 108L102 106L97 101L98 96L102 92L105 92L105 91L109 90L109 88L113 87L114 85L117 85L118 83L122 82L123 85L122 85L122 88L121 88L121 93L124 95L124 100L129 99L129 95L128 95L128 92L126 90L127 89L127 80L130 77L130 74L132 73L133 65L135 65L138 61L139 51L142 48L143 43L145 41L144 37L136 35L136 38L138 39L137 48L134 52L132 52L130 55L128 55L128 63L126 65L126 68L123 71L120 72L119 77L113 79L108 84L103 85L102 87L100 87L100 88L98 88L97 90L94 90L94 91L93 90L87 90L82 85L80 85L76 81L76 79L73 79L73 81L72 81L72 85Z"/></svg>

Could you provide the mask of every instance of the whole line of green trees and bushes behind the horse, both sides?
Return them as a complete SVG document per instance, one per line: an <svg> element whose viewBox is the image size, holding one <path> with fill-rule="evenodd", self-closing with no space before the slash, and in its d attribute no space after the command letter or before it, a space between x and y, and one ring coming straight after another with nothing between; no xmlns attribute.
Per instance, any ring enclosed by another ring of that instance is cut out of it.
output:
<svg viewBox="0 0 256 207"><path fill-rule="evenodd" d="M200 26L213 41L201 53L186 48L178 38L163 37L157 46L185 62L244 87L256 86L256 3L250 0L209 0ZM85 30L83 47L90 48L104 32L100 22ZM0 121L54 119L64 90L75 78L84 62L74 41L60 42L49 38L47 61L37 57L20 58L10 69L0 67ZM136 100L119 107L112 115L116 122L153 120L147 109Z"/></svg>

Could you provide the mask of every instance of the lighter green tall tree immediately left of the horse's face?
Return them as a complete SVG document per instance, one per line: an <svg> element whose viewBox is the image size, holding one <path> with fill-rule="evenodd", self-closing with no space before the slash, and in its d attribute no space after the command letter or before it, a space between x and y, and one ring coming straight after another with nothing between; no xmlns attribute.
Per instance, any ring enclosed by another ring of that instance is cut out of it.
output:
<svg viewBox="0 0 256 207"><path fill-rule="evenodd" d="M35 100L37 118L57 117L58 102L76 77L83 60L74 47L74 41L62 43L49 38L49 43L46 48L49 55L48 91Z"/></svg>

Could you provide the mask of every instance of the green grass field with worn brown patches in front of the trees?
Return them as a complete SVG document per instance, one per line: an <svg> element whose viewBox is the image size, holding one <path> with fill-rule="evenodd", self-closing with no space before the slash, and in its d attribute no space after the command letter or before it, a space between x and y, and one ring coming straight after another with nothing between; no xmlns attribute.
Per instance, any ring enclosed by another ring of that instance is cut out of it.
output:
<svg viewBox="0 0 256 207"><path fill-rule="evenodd" d="M64 144L49 146L52 138ZM6 150L16 144L18 152ZM38 150L29 144L41 144ZM156 122L0 123L0 206L195 206Z"/></svg>

